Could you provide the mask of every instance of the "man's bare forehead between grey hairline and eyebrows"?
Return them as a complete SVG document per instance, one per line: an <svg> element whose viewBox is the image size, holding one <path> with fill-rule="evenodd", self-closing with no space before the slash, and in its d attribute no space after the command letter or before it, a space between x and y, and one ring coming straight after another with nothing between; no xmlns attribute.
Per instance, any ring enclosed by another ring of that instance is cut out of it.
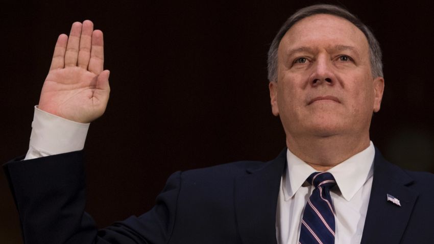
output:
<svg viewBox="0 0 434 244"><path fill-rule="evenodd" d="M312 50L330 46L351 46L369 55L368 40L350 21L329 14L316 14L295 23L283 36L279 52L309 47Z"/></svg>

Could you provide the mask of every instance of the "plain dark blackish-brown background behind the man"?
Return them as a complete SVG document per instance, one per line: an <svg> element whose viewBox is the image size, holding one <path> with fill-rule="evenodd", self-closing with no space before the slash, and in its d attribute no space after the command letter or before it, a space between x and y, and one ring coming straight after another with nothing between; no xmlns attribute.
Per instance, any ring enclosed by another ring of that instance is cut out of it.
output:
<svg viewBox="0 0 434 244"><path fill-rule="evenodd" d="M272 116L267 51L285 19L318 1L27 1L2 5L0 162L28 150L33 106L53 47L71 23L105 35L106 113L89 130L87 211L100 227L153 206L176 170L273 159L285 146ZM431 1L324 1L376 34L385 93L371 138L404 168L434 172ZM429 4L428 4L429 3ZM332 145L330 145L332 146ZM0 243L21 243L0 174Z"/></svg>

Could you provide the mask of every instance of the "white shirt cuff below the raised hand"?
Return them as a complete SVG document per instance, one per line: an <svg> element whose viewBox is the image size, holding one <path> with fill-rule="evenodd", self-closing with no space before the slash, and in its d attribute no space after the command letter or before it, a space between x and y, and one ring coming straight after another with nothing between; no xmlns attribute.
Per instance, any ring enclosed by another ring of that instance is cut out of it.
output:
<svg viewBox="0 0 434 244"><path fill-rule="evenodd" d="M82 150L89 125L47 113L35 106L29 151L25 159Z"/></svg>

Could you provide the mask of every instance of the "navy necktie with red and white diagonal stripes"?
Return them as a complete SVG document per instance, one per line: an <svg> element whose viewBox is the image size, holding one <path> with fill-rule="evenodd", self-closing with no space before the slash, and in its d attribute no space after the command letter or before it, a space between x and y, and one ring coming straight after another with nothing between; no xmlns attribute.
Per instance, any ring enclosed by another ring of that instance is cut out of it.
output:
<svg viewBox="0 0 434 244"><path fill-rule="evenodd" d="M334 210L330 188L336 181L328 172L316 172L307 178L315 186L307 200L301 221L299 244L334 243Z"/></svg>

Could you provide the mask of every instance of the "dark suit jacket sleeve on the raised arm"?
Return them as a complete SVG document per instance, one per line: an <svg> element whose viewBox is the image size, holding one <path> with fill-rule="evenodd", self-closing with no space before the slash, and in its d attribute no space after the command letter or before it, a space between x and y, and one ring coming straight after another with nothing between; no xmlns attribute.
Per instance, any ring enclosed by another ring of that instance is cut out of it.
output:
<svg viewBox="0 0 434 244"><path fill-rule="evenodd" d="M166 243L174 226L181 173L173 174L154 208L97 230L85 212L81 151L4 165L25 243Z"/></svg>

